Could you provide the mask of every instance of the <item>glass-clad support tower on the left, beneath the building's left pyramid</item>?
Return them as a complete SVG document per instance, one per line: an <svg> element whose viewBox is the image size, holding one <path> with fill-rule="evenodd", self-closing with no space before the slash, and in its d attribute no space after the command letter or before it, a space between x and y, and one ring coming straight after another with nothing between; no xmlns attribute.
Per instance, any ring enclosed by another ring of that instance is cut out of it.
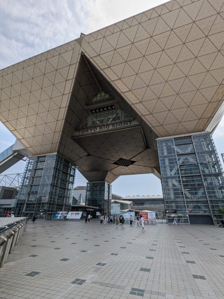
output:
<svg viewBox="0 0 224 299"><path fill-rule="evenodd" d="M29 158L16 196L16 216L37 214L51 219L71 210L76 167L57 154Z"/></svg>

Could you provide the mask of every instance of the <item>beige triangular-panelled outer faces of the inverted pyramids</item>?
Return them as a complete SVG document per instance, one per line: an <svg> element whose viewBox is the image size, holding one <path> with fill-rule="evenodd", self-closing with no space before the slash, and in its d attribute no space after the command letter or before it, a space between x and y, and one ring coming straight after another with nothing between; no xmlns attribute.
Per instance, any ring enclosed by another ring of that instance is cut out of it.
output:
<svg viewBox="0 0 224 299"><path fill-rule="evenodd" d="M33 155L57 151L82 51L158 136L213 129L223 41L224 0L167 2L1 70L0 120Z"/></svg>

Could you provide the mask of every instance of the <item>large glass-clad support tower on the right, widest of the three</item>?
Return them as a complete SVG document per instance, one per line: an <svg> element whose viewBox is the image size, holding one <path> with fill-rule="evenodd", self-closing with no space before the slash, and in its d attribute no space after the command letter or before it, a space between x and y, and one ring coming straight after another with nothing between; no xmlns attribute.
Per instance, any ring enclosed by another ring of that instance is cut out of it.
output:
<svg viewBox="0 0 224 299"><path fill-rule="evenodd" d="M219 223L224 176L211 133L158 138L157 147L165 208L177 210L179 223Z"/></svg>

